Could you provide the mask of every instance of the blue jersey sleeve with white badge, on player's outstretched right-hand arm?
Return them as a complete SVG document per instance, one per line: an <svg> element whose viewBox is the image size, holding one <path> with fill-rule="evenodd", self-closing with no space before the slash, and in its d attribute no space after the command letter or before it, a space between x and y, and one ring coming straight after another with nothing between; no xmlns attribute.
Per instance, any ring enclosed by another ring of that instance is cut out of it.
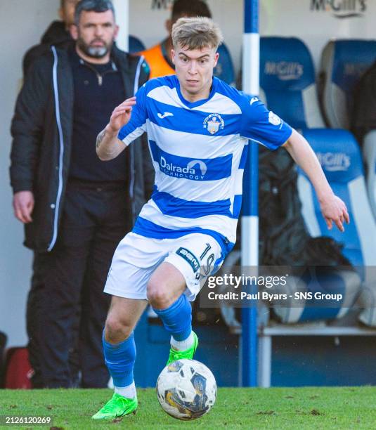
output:
<svg viewBox="0 0 376 430"><path fill-rule="evenodd" d="M290 125L271 110L267 110L259 98L244 94L242 102L242 137L261 143L270 150L276 150L290 138Z"/></svg>

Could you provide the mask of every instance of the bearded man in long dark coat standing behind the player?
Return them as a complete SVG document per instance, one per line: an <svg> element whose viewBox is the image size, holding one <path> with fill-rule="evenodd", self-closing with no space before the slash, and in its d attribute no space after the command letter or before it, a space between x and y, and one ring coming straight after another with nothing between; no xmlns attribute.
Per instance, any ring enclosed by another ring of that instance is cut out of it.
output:
<svg viewBox="0 0 376 430"><path fill-rule="evenodd" d="M95 143L113 105L148 79L148 66L113 46L110 0L80 1L71 34L72 46L51 46L34 61L12 122L13 207L43 278L37 340L42 384L51 388L71 384L68 356L79 307L82 386L108 383L103 285L144 199L141 142L106 164Z"/></svg>

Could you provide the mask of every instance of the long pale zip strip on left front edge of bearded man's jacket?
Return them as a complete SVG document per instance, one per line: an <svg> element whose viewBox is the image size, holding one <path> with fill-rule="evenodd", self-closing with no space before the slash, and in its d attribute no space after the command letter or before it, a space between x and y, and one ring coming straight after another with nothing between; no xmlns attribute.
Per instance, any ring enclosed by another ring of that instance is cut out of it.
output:
<svg viewBox="0 0 376 430"><path fill-rule="evenodd" d="M58 238L58 216L59 216L61 195L63 193L63 155L64 155L64 138L63 138L63 128L61 126L61 119L60 119L60 105L59 105L59 93L58 93L58 53L56 53L55 46L51 46L51 50L53 52L53 70L52 70L53 93L55 96L55 114L56 114L56 123L58 125L60 153L59 153L59 166L58 166L59 168L58 169L59 170L58 194L56 195L56 203L54 205L55 207L53 207L53 204L51 204L51 209L55 210L55 215L53 217L53 235L52 235L50 245L48 246L48 249L47 249L48 252L51 252Z"/></svg>

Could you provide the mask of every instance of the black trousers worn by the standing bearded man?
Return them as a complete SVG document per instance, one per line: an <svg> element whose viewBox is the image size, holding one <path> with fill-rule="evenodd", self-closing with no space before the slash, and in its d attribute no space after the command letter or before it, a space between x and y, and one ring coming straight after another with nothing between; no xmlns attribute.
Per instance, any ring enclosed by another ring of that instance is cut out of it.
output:
<svg viewBox="0 0 376 430"><path fill-rule="evenodd" d="M56 246L35 253L27 304L33 385L102 388L108 371L102 331L110 304L103 293L117 244L131 228L125 185L70 181Z"/></svg>

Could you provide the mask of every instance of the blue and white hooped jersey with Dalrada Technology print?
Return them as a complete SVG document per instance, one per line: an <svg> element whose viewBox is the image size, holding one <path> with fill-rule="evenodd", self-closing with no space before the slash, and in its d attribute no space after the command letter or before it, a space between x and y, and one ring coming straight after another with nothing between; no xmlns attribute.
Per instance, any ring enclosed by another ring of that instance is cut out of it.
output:
<svg viewBox="0 0 376 430"><path fill-rule="evenodd" d="M119 139L129 145L148 133L155 186L134 233L208 233L226 255L236 239L248 139L274 150L290 137L291 127L257 97L216 77L206 100L185 100L176 75L151 79L136 98Z"/></svg>

